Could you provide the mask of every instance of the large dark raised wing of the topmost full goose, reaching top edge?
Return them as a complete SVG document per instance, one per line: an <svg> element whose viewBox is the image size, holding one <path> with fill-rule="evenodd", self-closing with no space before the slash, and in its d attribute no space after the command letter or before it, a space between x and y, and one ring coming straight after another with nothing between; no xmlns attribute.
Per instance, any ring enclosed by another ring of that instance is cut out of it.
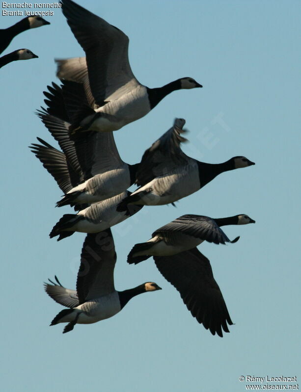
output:
<svg viewBox="0 0 301 392"><path fill-rule="evenodd" d="M129 38L71 0L62 0L62 11L86 54L89 84L97 105L115 100L139 83L128 59Z"/></svg>

